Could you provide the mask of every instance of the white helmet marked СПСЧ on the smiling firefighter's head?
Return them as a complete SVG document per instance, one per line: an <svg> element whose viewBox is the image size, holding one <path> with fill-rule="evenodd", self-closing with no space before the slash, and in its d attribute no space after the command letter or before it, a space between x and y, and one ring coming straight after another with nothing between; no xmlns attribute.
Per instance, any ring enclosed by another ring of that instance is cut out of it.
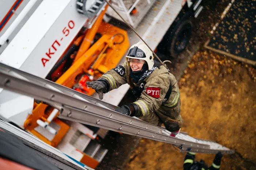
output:
<svg viewBox="0 0 256 170"><path fill-rule="evenodd" d="M142 41L139 41L136 44L133 44L127 53L126 60L128 58L145 60L148 65L148 70L151 70L154 66L154 57L153 52L146 46Z"/></svg>

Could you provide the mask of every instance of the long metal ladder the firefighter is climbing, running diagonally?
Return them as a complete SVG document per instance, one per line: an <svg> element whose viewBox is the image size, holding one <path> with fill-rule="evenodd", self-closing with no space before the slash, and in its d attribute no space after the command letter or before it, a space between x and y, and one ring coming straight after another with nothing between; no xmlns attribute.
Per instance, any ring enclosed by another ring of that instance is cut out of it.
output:
<svg viewBox="0 0 256 170"><path fill-rule="evenodd" d="M140 119L113 111L117 106L102 102L71 88L28 74L0 63L0 87L43 101L60 111L59 118L133 136L170 143L183 152L233 154L216 142L195 139L187 134L170 137L167 130Z"/></svg>

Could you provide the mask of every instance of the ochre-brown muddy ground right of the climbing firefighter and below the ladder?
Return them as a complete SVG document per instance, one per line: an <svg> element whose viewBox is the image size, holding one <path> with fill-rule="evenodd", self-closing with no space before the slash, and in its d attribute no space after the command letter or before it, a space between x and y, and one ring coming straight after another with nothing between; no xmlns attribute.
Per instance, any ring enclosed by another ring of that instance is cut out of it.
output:
<svg viewBox="0 0 256 170"><path fill-rule="evenodd" d="M179 81L182 131L217 141L256 162L256 71L225 56L201 51L193 56ZM182 169L185 155L172 145L142 139L125 169ZM238 155L236 155L238 157ZM197 154L211 165L214 155ZM221 169L245 169L224 155ZM253 167L250 162L243 166Z"/></svg>

